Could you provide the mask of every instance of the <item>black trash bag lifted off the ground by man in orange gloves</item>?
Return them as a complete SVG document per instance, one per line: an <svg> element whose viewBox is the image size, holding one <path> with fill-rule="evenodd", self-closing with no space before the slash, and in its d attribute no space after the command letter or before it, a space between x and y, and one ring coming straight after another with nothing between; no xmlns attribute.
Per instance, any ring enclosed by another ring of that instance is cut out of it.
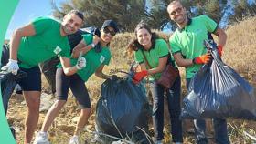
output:
<svg viewBox="0 0 256 144"><path fill-rule="evenodd" d="M220 59L210 47L212 62L202 66L190 81L181 118L256 119L256 98L251 85ZM209 46L210 45L210 46Z"/></svg>

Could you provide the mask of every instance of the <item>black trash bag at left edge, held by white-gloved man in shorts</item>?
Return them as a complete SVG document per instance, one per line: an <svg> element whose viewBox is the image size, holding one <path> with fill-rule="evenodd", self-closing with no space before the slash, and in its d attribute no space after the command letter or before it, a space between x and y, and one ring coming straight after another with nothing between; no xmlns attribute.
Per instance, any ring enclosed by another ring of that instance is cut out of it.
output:
<svg viewBox="0 0 256 144"><path fill-rule="evenodd" d="M11 98L11 95L16 87L17 81L23 77L27 77L27 73L21 70L18 70L16 75L3 70L0 71L1 92L5 114L8 109L9 99Z"/></svg>

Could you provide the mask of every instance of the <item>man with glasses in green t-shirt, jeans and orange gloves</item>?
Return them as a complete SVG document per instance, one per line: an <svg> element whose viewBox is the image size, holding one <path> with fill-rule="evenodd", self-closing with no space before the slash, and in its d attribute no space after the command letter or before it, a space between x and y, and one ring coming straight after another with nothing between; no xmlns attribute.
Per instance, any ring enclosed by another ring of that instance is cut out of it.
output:
<svg viewBox="0 0 256 144"><path fill-rule="evenodd" d="M219 28L216 22L207 15L200 15L192 19L187 17L186 9L180 1L175 0L167 7L168 14L178 28L170 37L172 53L179 67L186 67L187 87L191 77L197 70L210 61L210 54L203 45L204 40L211 37L210 33L219 37L218 52L221 56L222 47L226 43L227 35ZM227 121L222 118L213 118L216 143L229 143ZM205 134L205 120L194 120L197 143L208 143Z"/></svg>

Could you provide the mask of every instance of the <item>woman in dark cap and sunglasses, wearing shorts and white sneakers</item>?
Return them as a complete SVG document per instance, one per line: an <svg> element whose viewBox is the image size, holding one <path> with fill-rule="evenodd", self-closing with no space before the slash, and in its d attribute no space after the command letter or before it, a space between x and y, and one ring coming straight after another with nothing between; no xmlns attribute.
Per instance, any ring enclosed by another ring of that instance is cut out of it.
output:
<svg viewBox="0 0 256 144"><path fill-rule="evenodd" d="M68 98L69 88L77 99L80 105L80 117L73 137L70 139L69 144L78 144L80 130L88 122L91 114L91 101L85 82L95 73L97 77L103 79L110 78L111 76L102 73L105 65L109 65L111 60L111 52L109 44L113 36L119 31L116 23L112 20L106 20L101 26L101 36L93 36L91 34L82 35L83 39L80 44L74 47L72 51L71 65L78 61L78 57L86 59L86 67L80 68L76 74L66 76L62 67L59 67L56 72L56 91L58 100L48 110L47 116L42 125L41 131L37 135L36 143L48 142L47 131L53 122L54 118L59 114L60 109L65 105ZM95 48L95 46L101 48Z"/></svg>

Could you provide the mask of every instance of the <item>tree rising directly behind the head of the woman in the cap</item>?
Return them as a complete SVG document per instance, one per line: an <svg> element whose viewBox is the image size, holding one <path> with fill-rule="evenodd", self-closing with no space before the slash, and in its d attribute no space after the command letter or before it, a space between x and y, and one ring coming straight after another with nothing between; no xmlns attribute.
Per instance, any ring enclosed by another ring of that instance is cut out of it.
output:
<svg viewBox="0 0 256 144"><path fill-rule="evenodd" d="M146 19L145 0L70 0L53 4L53 15L62 18L71 9L78 9L85 15L84 26L101 27L106 19L118 22L123 31L133 31L134 27Z"/></svg>

